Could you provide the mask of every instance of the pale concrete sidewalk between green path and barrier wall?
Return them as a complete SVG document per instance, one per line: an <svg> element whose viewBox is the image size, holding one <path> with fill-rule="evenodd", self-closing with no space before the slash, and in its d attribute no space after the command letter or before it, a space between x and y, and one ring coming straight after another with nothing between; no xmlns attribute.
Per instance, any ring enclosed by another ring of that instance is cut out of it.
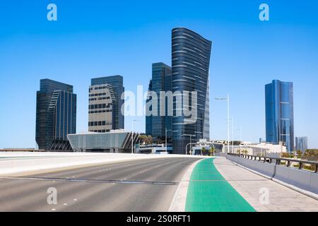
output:
<svg viewBox="0 0 318 226"><path fill-rule="evenodd" d="M318 211L318 201L232 164L225 158L214 160L218 172L257 211ZM269 202L262 196L269 192ZM264 193L265 192L265 193Z"/></svg>

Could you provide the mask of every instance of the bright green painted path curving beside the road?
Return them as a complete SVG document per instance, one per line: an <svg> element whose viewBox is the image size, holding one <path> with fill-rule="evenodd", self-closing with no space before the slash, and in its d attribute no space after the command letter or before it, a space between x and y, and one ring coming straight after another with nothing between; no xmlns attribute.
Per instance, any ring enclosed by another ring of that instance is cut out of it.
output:
<svg viewBox="0 0 318 226"><path fill-rule="evenodd" d="M214 158L201 160L192 172L187 192L187 212L255 212L222 177Z"/></svg>

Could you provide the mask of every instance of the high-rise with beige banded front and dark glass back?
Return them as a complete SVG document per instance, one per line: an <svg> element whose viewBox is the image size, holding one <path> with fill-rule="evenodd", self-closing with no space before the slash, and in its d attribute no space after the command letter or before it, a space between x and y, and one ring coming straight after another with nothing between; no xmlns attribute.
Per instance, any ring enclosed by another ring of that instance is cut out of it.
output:
<svg viewBox="0 0 318 226"><path fill-rule="evenodd" d="M88 130L102 133L124 129L123 77L92 78L89 93Z"/></svg>

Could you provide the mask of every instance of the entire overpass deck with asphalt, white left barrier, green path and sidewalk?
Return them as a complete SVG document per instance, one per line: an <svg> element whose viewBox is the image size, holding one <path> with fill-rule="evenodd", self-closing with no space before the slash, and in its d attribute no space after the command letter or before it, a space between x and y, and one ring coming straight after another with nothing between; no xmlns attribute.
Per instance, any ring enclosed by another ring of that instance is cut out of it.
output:
<svg viewBox="0 0 318 226"><path fill-rule="evenodd" d="M314 193L274 182L234 160L0 153L0 211L318 211ZM57 203L50 202L54 189Z"/></svg>

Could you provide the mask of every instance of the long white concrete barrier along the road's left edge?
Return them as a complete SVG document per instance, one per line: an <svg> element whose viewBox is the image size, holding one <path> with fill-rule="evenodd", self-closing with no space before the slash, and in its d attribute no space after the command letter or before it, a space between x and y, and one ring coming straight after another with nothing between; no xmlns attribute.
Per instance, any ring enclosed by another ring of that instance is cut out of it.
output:
<svg viewBox="0 0 318 226"><path fill-rule="evenodd" d="M200 157L194 155L146 155L125 153L0 153L0 176L46 169L98 165L131 160L165 157Z"/></svg>

